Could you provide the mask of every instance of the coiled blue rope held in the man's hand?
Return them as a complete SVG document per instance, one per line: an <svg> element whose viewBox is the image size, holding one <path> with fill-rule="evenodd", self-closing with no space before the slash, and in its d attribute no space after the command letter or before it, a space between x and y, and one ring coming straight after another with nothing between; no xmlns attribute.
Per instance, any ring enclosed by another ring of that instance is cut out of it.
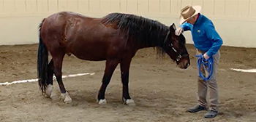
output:
<svg viewBox="0 0 256 122"><path fill-rule="evenodd" d="M200 78L203 79L203 81L210 81L211 80L211 76L214 73L214 59L213 57L208 58L208 60L206 60L203 57L203 54L198 54L195 55L195 57L198 57L197 59L197 68L198 68L198 73ZM201 72L201 66L203 66L203 68L208 72L208 76L204 76L203 73Z"/></svg>

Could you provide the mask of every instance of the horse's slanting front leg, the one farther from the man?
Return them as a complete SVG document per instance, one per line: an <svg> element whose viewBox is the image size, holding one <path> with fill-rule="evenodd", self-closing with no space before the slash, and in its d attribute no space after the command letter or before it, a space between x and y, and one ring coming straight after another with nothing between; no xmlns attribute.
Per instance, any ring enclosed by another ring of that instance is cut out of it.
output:
<svg viewBox="0 0 256 122"><path fill-rule="evenodd" d="M99 103L99 105L104 105L107 103L105 99L105 91L117 65L118 65L118 60L106 61L105 73L102 78L102 86L99 89L99 94L97 98L97 102Z"/></svg>

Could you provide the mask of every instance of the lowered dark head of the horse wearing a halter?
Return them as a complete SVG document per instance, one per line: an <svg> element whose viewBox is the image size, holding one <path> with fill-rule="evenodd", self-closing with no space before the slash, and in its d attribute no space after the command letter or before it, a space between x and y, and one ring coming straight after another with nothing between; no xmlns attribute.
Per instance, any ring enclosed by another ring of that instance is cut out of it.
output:
<svg viewBox="0 0 256 122"><path fill-rule="evenodd" d="M171 59L176 61L179 68L188 68L190 65L189 54L186 49L186 39L181 34L176 36L176 26L170 25L170 30L165 36L165 41L162 48L170 56Z"/></svg>

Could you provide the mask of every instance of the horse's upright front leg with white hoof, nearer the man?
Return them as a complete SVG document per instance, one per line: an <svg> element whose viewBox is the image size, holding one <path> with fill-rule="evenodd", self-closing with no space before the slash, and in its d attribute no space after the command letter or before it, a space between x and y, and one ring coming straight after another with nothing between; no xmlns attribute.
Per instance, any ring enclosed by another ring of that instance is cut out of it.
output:
<svg viewBox="0 0 256 122"><path fill-rule="evenodd" d="M129 66L132 58L122 60L121 68L121 81L123 84L123 102L125 105L135 105L135 102L129 96Z"/></svg>

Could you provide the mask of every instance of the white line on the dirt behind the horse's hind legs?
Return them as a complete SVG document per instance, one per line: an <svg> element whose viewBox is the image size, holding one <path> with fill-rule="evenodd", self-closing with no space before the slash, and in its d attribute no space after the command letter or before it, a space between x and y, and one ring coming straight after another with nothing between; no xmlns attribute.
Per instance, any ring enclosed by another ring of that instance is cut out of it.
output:
<svg viewBox="0 0 256 122"><path fill-rule="evenodd" d="M62 78L72 78L72 77L86 76L86 75L92 76L94 74L95 73L78 73L78 74L62 76ZM53 76L53 78L56 79L55 76ZM28 79L28 80L20 80L20 81L12 81L12 82L4 82L4 83L0 83L0 86L8 86L8 85L12 85L12 84L29 83L29 82L37 82L37 81L38 81L38 78Z"/></svg>

